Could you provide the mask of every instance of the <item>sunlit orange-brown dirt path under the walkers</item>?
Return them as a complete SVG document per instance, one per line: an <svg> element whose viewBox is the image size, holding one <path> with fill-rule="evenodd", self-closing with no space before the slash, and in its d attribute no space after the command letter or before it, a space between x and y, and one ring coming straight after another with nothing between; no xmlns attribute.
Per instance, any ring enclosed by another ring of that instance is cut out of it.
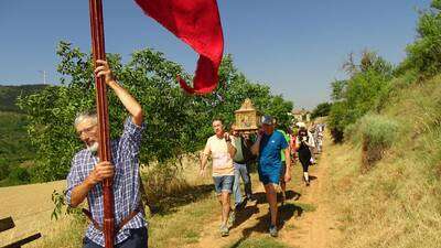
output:
<svg viewBox="0 0 441 248"><path fill-rule="evenodd" d="M325 148L330 145L325 140ZM277 240L289 247L327 248L338 237L336 220L333 218L330 201L326 197L330 152L324 152L318 165L311 166L312 183L305 187L300 180L302 171L295 165L292 172L292 182L288 184L288 201L283 206L279 204L279 237ZM255 175L257 177L257 175ZM236 225L230 235L220 238L218 226L220 217L216 212L207 223L198 244L189 247L240 247L247 239L259 239L268 235L268 204L261 183L254 179L254 192L257 203L248 203L246 208L237 214Z"/></svg>

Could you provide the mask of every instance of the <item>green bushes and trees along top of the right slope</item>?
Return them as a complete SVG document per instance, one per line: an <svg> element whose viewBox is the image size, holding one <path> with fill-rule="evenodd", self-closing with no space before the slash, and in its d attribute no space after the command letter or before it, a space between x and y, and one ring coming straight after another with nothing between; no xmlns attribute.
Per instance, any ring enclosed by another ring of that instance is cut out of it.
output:
<svg viewBox="0 0 441 248"><path fill-rule="evenodd" d="M342 67L348 78L331 83L334 104L329 121L335 141L342 141L348 125L369 111L379 111L395 88L441 72L441 0L432 0L429 9L420 11L417 34L406 48L407 57L396 68L368 50L362 53L358 64L353 53L348 55Z"/></svg>

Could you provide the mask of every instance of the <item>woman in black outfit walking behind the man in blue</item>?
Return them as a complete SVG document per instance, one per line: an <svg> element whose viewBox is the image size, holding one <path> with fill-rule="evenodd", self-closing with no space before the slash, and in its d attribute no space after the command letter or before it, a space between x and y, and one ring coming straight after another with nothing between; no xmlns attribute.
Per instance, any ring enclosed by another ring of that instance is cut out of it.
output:
<svg viewBox="0 0 441 248"><path fill-rule="evenodd" d="M311 163L311 149L314 148L314 138L311 132L308 131L306 126L303 122L299 122L299 132L295 138L295 150L299 154L300 163L303 168L303 180L306 186L310 185L310 176L308 169Z"/></svg>

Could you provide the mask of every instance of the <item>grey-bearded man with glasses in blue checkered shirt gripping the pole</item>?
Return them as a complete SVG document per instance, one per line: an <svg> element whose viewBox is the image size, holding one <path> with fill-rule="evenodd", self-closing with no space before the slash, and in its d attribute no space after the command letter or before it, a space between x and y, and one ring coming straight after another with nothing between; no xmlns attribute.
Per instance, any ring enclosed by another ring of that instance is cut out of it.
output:
<svg viewBox="0 0 441 248"><path fill-rule="evenodd" d="M147 247L147 222L140 196L138 153L144 129L142 108L138 101L112 77L106 61L97 61L96 76L105 76L106 84L115 91L129 111L121 137L112 140L111 162L100 162L97 157L98 126L96 114L77 115L75 129L86 148L75 154L67 175L66 202L77 207L87 198L92 223L84 238L85 248L104 247L103 186L105 179L114 179L115 244L117 248ZM87 213L87 211L86 211Z"/></svg>

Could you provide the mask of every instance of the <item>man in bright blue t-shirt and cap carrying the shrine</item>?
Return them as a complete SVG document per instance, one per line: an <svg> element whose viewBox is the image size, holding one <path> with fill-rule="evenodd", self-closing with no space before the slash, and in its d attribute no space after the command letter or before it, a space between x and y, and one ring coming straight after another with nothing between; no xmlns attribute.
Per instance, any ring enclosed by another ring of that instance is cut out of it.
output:
<svg viewBox="0 0 441 248"><path fill-rule="evenodd" d="M269 209L271 214L271 224L269 227L269 234L272 237L278 236L277 231L277 192L276 187L279 185L281 158L280 152L283 150L286 157L287 170L284 172L284 182L288 183L291 180L290 173L290 151L288 142L281 132L275 131L275 121L270 116L262 117L262 129L259 132L257 141L251 147L251 151L259 155L259 180L265 186L267 194L267 201L269 203Z"/></svg>

